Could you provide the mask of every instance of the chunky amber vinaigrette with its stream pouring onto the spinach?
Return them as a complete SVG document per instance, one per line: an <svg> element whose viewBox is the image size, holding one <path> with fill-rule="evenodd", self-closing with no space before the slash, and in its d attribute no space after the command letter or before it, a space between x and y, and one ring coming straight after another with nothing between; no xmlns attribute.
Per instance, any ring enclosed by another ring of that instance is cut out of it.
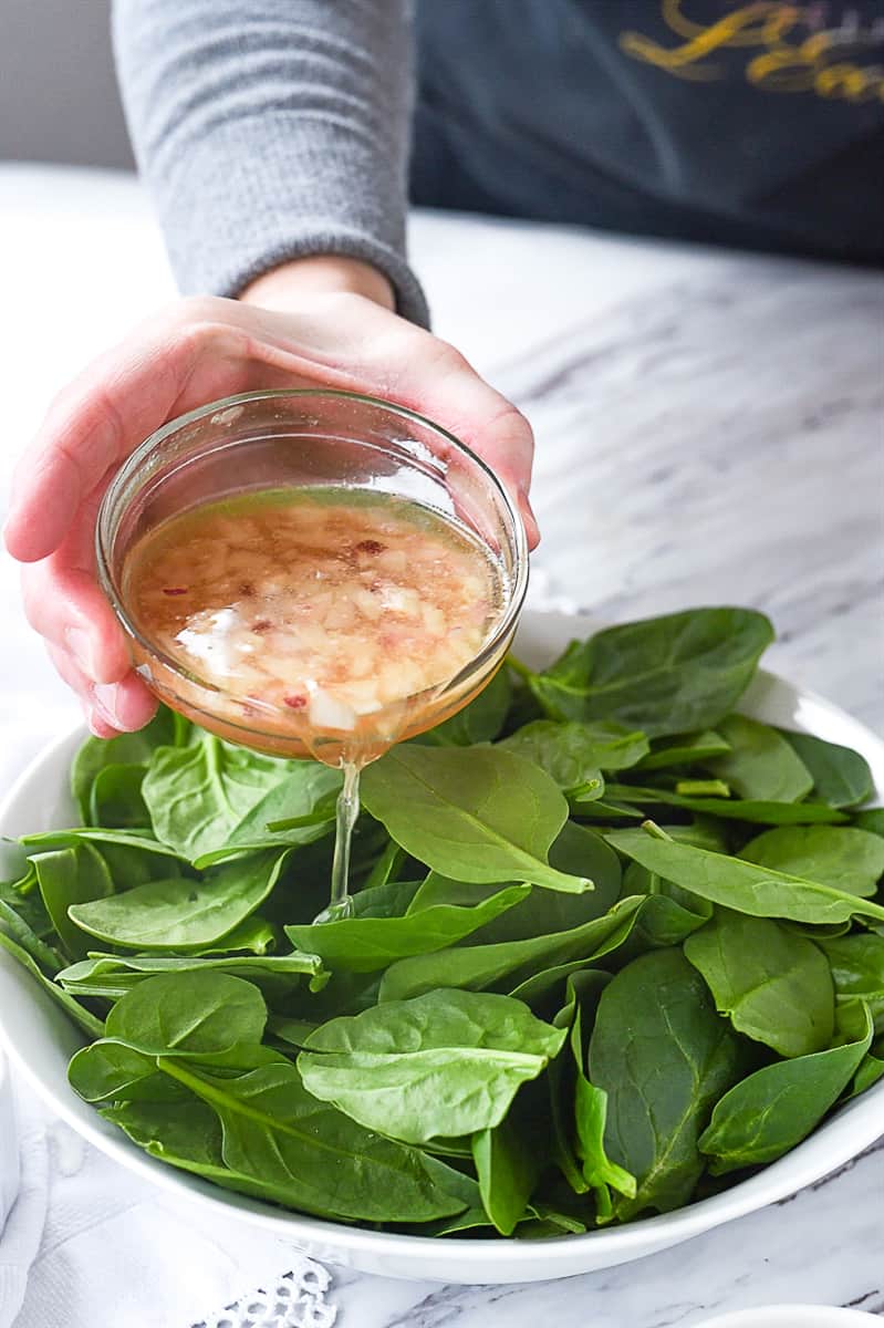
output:
<svg viewBox="0 0 884 1328"><path fill-rule="evenodd" d="M358 772L425 726L421 710L492 633L504 596L491 555L405 498L271 490L150 531L126 559L123 594L139 631L218 691L240 741L254 728L265 749L269 729L285 754L344 769L323 915L340 916Z"/></svg>

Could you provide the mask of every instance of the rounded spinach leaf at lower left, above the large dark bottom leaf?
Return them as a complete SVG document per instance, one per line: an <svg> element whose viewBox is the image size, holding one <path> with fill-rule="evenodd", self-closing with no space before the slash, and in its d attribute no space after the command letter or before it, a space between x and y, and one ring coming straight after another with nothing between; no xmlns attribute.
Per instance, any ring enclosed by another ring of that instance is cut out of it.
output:
<svg viewBox="0 0 884 1328"><path fill-rule="evenodd" d="M223 972L157 973L122 996L105 1036L145 1056L200 1056L260 1042L267 1021L261 993Z"/></svg>

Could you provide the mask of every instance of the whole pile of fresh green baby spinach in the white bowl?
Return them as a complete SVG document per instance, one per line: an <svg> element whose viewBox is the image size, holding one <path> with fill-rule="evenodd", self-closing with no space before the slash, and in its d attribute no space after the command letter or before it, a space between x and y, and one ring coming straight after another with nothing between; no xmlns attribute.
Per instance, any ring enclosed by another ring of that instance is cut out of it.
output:
<svg viewBox="0 0 884 1328"><path fill-rule="evenodd" d="M884 809L733 713L769 639L694 610L504 664L365 772L323 924L340 772L161 708L81 748L84 825L3 845L3 959L73 1089L214 1185L462 1238L688 1203L881 1092Z"/></svg>

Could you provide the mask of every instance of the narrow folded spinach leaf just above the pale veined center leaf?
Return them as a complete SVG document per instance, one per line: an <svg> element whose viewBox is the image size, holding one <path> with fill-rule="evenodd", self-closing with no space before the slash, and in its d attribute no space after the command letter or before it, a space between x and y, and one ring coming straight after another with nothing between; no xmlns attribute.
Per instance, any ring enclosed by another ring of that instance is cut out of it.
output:
<svg viewBox="0 0 884 1328"><path fill-rule="evenodd" d="M437 987L480 991L487 987L518 987L539 968L616 951L625 942L641 906L640 899L621 899L603 918L593 918L551 936L528 936L491 946L458 946L435 955L415 955L390 964L381 979L381 1003L431 992Z"/></svg>

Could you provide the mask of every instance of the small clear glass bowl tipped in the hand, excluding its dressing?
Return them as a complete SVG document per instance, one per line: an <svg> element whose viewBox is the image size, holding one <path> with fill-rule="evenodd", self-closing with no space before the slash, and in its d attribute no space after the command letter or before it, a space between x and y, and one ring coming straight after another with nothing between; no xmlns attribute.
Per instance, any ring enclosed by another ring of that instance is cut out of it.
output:
<svg viewBox="0 0 884 1328"><path fill-rule="evenodd" d="M473 700L502 664L524 600L522 519L496 475L453 434L354 392L247 392L214 401L163 425L115 474L98 513L98 576L135 669L162 701L231 742L337 765L345 750L352 757L352 732L311 729L304 712L271 703L244 705L191 672L134 622L122 575L135 543L174 515L247 493L317 486L393 494L431 509L484 546L500 582L498 619L466 668L364 717L364 762Z"/></svg>

